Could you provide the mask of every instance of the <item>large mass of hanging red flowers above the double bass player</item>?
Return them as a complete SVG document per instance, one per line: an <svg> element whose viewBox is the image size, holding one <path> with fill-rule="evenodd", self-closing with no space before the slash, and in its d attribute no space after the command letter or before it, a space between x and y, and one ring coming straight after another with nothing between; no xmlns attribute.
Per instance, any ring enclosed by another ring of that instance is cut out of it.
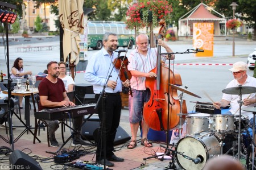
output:
<svg viewBox="0 0 256 170"><path fill-rule="evenodd" d="M152 27L158 26L158 20L164 19L166 22L171 19L172 6L168 1L143 0L130 6L126 12L127 28L142 28L148 22L152 22Z"/></svg>

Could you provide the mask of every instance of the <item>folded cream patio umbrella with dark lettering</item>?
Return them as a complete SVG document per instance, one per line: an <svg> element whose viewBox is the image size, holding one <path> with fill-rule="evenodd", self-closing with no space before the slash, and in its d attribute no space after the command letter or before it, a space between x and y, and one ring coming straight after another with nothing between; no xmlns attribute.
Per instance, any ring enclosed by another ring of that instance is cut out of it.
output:
<svg viewBox="0 0 256 170"><path fill-rule="evenodd" d="M60 25L63 34L63 56L64 62L69 56L69 68L74 78L74 67L79 63L81 42L79 34L84 34L84 0L59 1Z"/></svg>

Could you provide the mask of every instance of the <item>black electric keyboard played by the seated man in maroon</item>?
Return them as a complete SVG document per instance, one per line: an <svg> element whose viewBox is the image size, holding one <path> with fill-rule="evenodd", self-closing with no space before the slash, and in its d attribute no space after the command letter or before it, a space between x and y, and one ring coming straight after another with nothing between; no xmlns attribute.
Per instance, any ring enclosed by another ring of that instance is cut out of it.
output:
<svg viewBox="0 0 256 170"><path fill-rule="evenodd" d="M35 118L53 121L58 119L81 117L86 114L97 113L94 109L95 105L95 103L92 103L88 105L77 105L61 107L57 109L42 110L35 113Z"/></svg>

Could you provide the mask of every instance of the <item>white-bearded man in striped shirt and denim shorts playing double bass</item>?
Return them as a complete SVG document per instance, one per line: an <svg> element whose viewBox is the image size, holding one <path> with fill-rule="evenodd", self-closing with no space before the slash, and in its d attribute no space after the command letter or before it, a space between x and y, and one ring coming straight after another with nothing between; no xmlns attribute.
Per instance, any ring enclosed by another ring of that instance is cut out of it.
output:
<svg viewBox="0 0 256 170"><path fill-rule="evenodd" d="M143 105L148 101L150 94L146 90L146 77L156 77L154 72L150 72L156 67L158 48L148 47L148 36L146 34L139 34L136 37L137 48L131 52L128 57L128 70L133 76L130 80L131 89L133 90L133 97L129 96L129 122L131 127L131 140L127 148L133 149L137 146L137 132L139 122L142 121L142 139L141 144L145 147L152 147L152 143L147 140L148 125L143 121ZM158 39L158 45L166 49L166 52L172 52L162 39ZM171 60L174 55L171 55Z"/></svg>

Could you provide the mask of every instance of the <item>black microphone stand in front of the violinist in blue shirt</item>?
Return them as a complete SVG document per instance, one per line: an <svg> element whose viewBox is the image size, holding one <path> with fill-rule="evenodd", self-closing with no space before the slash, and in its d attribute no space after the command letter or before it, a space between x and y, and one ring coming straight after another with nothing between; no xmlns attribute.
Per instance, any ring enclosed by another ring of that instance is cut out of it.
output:
<svg viewBox="0 0 256 170"><path fill-rule="evenodd" d="M118 57L120 56L120 53L118 52ZM115 60L115 63L117 62L117 60ZM114 65L115 65L114 63ZM111 64L111 63L110 63ZM96 103L96 105L94 106L94 109L97 109L98 108L98 103L100 102L101 98L102 98L102 120L101 120L101 123L102 123L102 128L103 128L103 157L104 157L104 169L106 169L106 125L105 125L105 122L106 122L106 92L105 92L105 89L106 89L106 86L108 84L108 81L109 81L109 78L112 77L111 73L113 72L113 69L114 69L114 65L113 65L113 68L112 70L110 71L109 73L109 76L108 76L108 79L106 80L104 86L103 86L103 89L100 93L100 97L98 98L98 101ZM103 96L103 97L102 97ZM102 140L100 140L101 143L102 143ZM109 168L108 168L109 169Z"/></svg>

